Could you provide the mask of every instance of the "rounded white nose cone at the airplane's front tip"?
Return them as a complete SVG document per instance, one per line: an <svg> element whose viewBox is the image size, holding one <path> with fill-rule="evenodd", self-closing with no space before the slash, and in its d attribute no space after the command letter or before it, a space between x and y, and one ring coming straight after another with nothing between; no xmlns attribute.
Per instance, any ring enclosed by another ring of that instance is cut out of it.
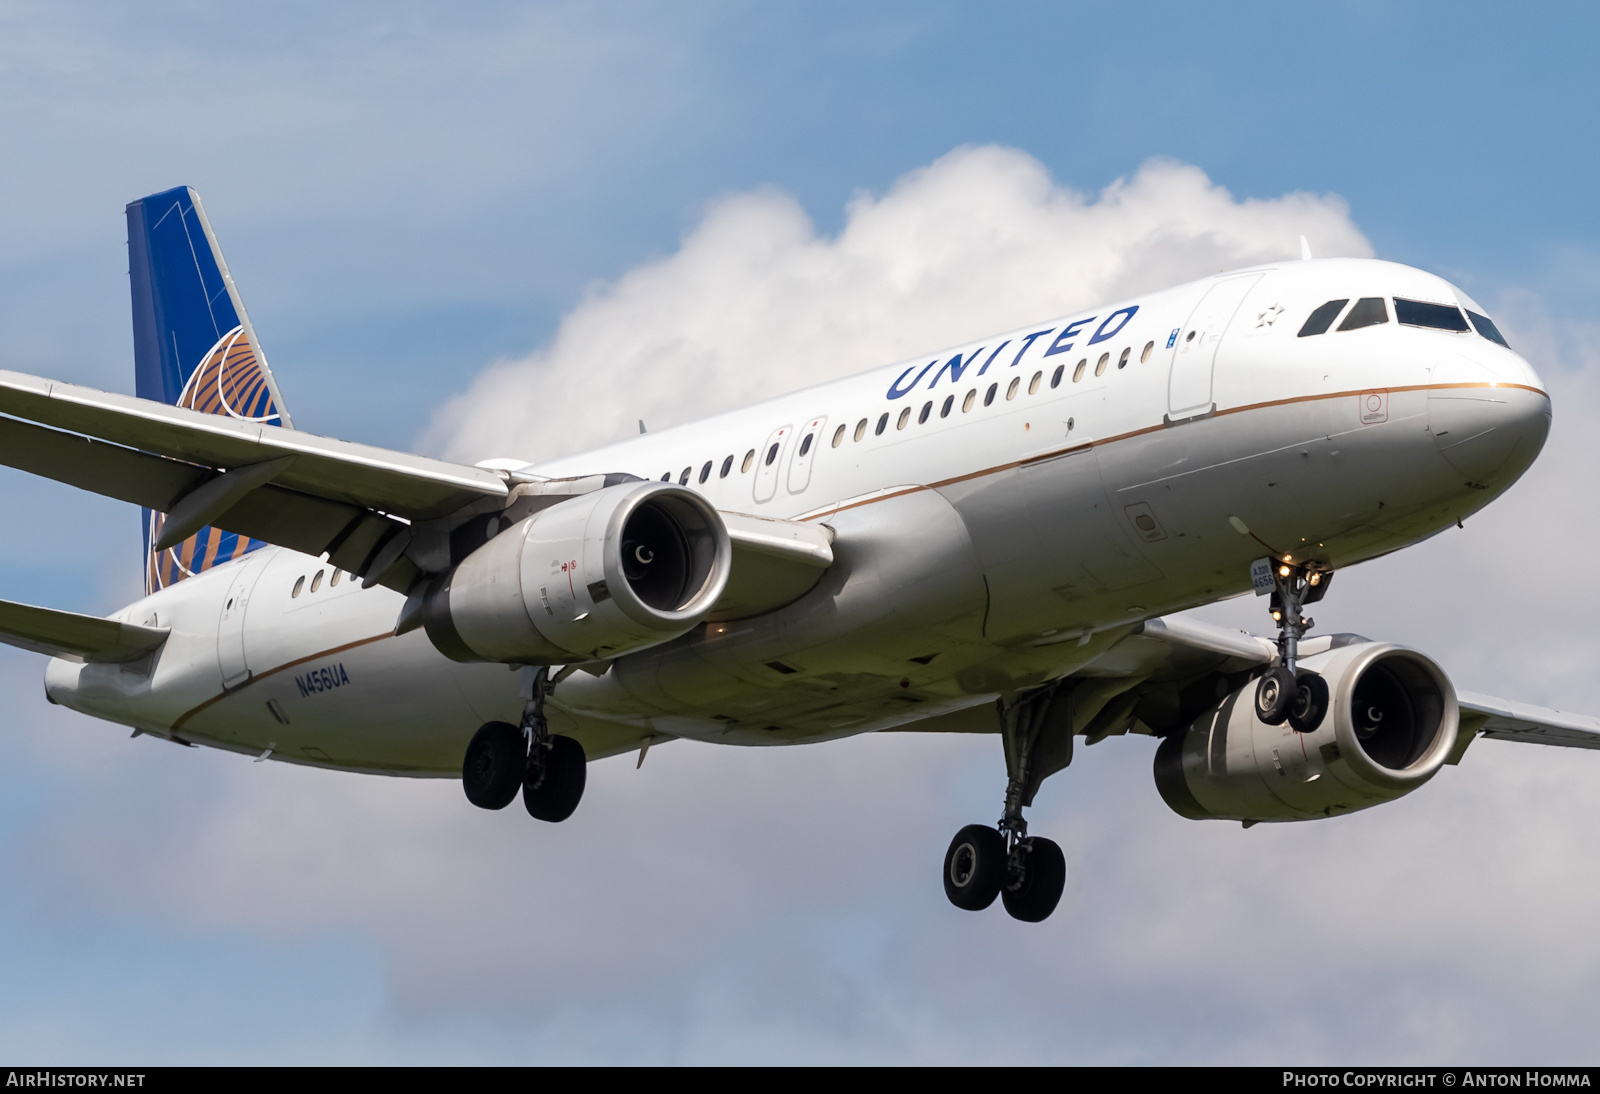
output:
<svg viewBox="0 0 1600 1094"><path fill-rule="evenodd" d="M1550 398L1522 358L1490 365L1458 353L1434 368L1427 419L1440 456L1469 483L1504 488L1544 448Z"/></svg>

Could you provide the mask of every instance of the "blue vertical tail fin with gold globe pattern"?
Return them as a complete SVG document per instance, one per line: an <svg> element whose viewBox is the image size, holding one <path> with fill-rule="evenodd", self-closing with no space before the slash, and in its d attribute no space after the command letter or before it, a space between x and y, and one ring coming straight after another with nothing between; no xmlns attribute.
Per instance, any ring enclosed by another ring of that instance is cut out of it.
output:
<svg viewBox="0 0 1600 1094"><path fill-rule="evenodd" d="M181 186L128 206L128 278L139 398L291 424L198 194ZM165 513L144 510L147 593L266 545L202 528L179 545L154 552L163 520Z"/></svg>

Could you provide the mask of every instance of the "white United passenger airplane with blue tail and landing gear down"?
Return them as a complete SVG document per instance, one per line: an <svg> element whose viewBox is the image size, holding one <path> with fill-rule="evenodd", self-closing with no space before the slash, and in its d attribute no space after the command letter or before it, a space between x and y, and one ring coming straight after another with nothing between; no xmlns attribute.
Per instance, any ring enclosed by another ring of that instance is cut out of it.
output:
<svg viewBox="0 0 1600 1094"><path fill-rule="evenodd" d="M1392 801L1482 736L1600 747L1600 720L1309 635L1339 569L1478 512L1549 432L1533 366L1432 274L1302 240L469 467L296 430L198 195L126 219L136 395L0 371L0 464L139 505L147 595L0 601L0 640L134 736L461 779L558 822L587 761L672 739L995 734L1000 820L955 835L942 883L1022 921L1066 884L1024 809L1080 737L1152 737L1168 806L1246 828ZM1173 617L1250 593L1275 638Z"/></svg>

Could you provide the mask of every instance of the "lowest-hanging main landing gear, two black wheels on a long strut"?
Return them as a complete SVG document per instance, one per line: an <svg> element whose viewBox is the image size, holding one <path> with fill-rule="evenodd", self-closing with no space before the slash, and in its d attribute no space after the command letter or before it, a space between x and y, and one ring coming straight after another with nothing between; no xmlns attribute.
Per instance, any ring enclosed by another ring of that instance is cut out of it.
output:
<svg viewBox="0 0 1600 1094"><path fill-rule="evenodd" d="M1070 704L1059 688L1042 688L1013 702L1000 701L1005 741L1005 814L994 828L970 824L944 852L944 894L968 912L1000 897L1024 923L1050 918L1067 884L1067 860L1054 840L1027 835L1024 806L1046 776L1072 763Z"/></svg>

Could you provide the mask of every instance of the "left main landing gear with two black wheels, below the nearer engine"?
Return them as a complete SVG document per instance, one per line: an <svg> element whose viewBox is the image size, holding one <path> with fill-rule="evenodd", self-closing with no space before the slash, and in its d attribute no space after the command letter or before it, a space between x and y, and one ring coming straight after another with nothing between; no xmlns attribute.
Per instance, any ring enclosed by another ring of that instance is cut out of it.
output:
<svg viewBox="0 0 1600 1094"><path fill-rule="evenodd" d="M522 726L485 721L467 745L461 785L480 809L504 809L522 790L536 820L565 820L584 797L589 758L571 737L552 736L544 718L549 673L539 669Z"/></svg>

